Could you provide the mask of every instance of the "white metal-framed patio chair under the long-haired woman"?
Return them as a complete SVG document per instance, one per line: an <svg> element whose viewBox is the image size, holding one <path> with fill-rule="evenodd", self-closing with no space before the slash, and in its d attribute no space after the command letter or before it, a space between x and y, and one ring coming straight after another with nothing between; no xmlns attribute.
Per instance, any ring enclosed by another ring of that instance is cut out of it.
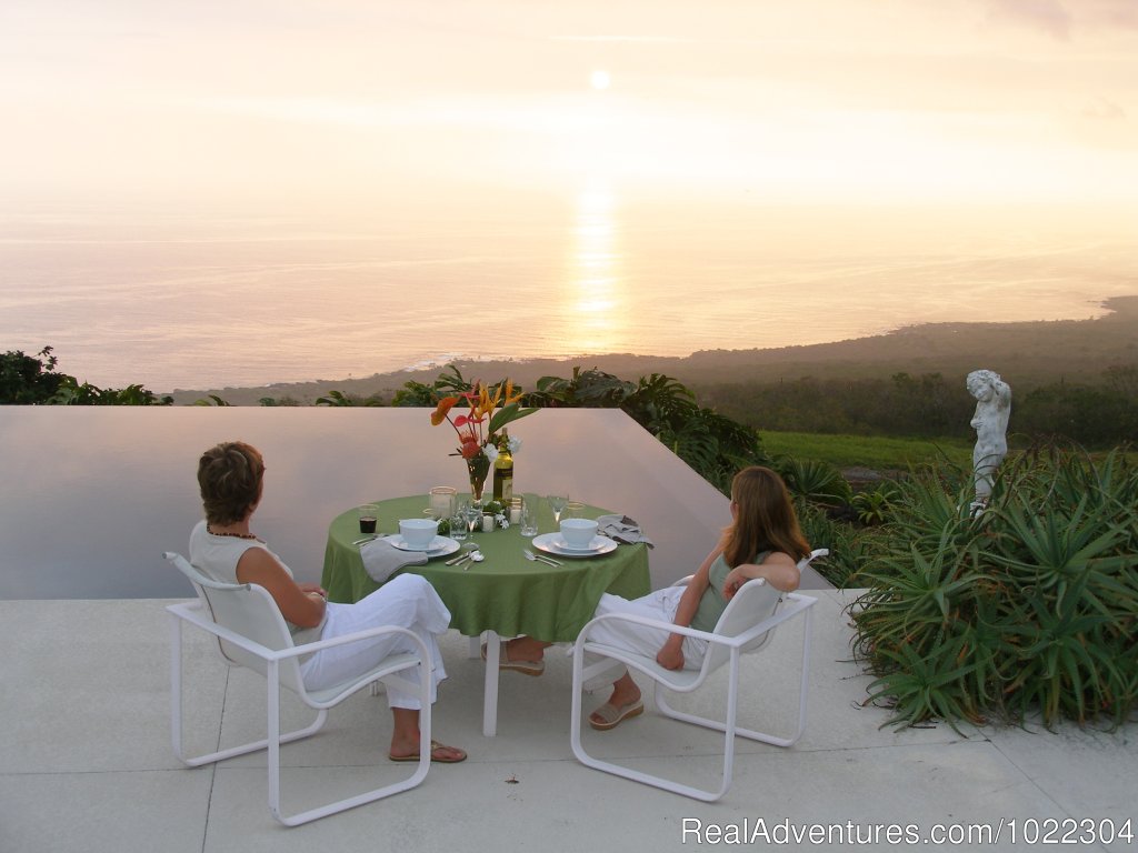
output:
<svg viewBox="0 0 1138 853"><path fill-rule="evenodd" d="M824 548L811 552L808 557L799 562L799 569L805 569L811 561L828 553ZM690 581L691 577L687 577L677 581L675 586L686 586ZM621 776L645 785L653 785L658 788L683 794L695 800L707 802L719 800L731 787L735 761L736 735L775 746L791 746L802 736L802 731L806 728L806 685L810 664L810 607L815 603L815 598L799 593L781 593L760 578L750 580L740 587L719 618L715 631L710 633L695 630L694 628L682 628L671 623L622 613L607 613L592 620L582 629L574 646L572 711L570 715L570 743L574 755L583 764L595 770L603 770L608 773L615 773L616 776ZM762 648L770 640L774 629L777 626L800 614L805 614L806 621L802 630L802 674L799 682L798 722L794 731L790 736L778 737L762 731L740 728L736 723L736 715L741 656L744 653L757 652ZM701 637L708 640L710 645L703 657L702 666L698 670L667 670L655 662L654 656L649 657L589 640L589 631L594 626L612 619L654 628L666 628L673 633L683 633L686 637ZM585 666L586 654L600 655L603 660ZM652 697L655 709L665 717L724 732L723 781L718 790L704 790L640 770L633 770L620 764L602 761L585 751L580 739L583 685L604 670L619 664L625 664L652 679ZM724 664L728 666L728 676L727 706L723 721L677 711L668 705L665 698L665 690L691 693L702 686L708 677Z"/></svg>

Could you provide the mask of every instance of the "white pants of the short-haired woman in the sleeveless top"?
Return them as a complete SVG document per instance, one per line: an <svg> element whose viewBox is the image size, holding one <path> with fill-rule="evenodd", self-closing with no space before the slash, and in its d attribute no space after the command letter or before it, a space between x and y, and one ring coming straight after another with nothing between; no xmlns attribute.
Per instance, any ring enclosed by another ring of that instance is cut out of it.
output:
<svg viewBox="0 0 1138 853"><path fill-rule="evenodd" d="M406 628L430 649L430 701L434 704L438 682L446 678L443 655L435 637L445 633L450 624L451 611L443 604L435 587L418 574L399 574L355 604L329 602L320 638L343 637L380 626ZM310 690L320 690L366 672L385 657L405 652L418 652L410 637L402 633L380 635L316 652L300 665L300 677ZM399 674L418 684L419 672L414 669ZM418 694L390 686L387 687L387 704L412 710L420 707Z"/></svg>

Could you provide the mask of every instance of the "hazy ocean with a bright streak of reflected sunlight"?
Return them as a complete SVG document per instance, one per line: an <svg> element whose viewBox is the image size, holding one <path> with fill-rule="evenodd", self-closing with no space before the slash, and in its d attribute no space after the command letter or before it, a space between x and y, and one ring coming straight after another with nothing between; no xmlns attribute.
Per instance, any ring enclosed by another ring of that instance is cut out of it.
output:
<svg viewBox="0 0 1138 853"><path fill-rule="evenodd" d="M0 214L0 346L100 387L257 387L453 358L819 343L1099 316L1138 243L1078 212L576 197L217 215Z"/></svg>

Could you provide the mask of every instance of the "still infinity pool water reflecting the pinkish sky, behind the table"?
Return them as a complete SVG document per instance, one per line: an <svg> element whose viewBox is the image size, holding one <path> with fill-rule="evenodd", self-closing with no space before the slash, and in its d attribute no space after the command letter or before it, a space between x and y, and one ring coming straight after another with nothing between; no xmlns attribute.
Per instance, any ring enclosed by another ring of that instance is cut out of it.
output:
<svg viewBox="0 0 1138 853"><path fill-rule="evenodd" d="M432 486L464 490L451 437L422 408L0 407L0 599L191 595L162 560L201 517L200 453L240 439L265 455L255 532L316 582L345 508ZM727 499L619 411L545 409L522 439L516 488L568 494L637 519L653 586L699 565ZM382 523L384 520L381 520ZM390 523L393 520L387 520Z"/></svg>

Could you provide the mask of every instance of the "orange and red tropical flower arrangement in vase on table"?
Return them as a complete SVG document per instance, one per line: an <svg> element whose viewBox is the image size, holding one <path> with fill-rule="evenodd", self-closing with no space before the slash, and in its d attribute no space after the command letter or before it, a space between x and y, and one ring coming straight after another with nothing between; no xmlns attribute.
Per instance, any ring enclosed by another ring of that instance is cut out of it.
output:
<svg viewBox="0 0 1138 853"><path fill-rule="evenodd" d="M431 412L432 425L438 426L446 421L459 437L459 447L451 455L465 459L470 491L476 500L481 499L486 477L498 456L498 446L502 444L500 431L506 424L537 411L522 408L521 398L521 391L514 392L512 380L508 379L493 390L483 382L476 382L475 390L444 397ZM463 401L467 404L464 414L452 417L454 407ZM511 455L516 454L521 449L521 439L511 436L506 446Z"/></svg>

